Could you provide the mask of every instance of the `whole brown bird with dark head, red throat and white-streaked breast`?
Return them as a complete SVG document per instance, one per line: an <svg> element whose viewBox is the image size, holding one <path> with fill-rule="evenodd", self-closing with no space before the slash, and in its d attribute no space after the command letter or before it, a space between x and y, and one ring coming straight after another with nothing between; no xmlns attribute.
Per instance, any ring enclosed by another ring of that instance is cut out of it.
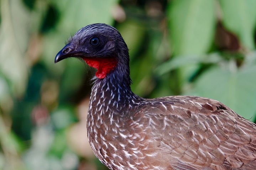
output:
<svg viewBox="0 0 256 170"><path fill-rule="evenodd" d="M255 170L256 124L216 100L139 97L131 90L129 49L116 28L90 24L54 62L77 57L96 68L87 136L111 170Z"/></svg>

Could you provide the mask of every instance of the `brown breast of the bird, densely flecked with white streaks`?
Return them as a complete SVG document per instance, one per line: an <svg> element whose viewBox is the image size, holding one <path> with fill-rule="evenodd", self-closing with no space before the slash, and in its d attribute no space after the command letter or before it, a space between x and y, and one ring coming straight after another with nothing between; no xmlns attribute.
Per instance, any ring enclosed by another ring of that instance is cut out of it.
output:
<svg viewBox="0 0 256 170"><path fill-rule="evenodd" d="M148 118L132 110L125 115L90 102L87 132L95 155L110 169L166 169L167 157L158 152L160 140L151 135Z"/></svg>

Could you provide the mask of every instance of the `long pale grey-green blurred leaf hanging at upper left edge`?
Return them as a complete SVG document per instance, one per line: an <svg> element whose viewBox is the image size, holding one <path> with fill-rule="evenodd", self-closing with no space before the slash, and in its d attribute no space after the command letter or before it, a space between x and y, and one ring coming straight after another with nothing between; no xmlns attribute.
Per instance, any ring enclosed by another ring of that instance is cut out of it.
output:
<svg viewBox="0 0 256 170"><path fill-rule="evenodd" d="M28 71L24 57L28 42L30 15L21 1L1 1L0 71L10 81L11 91L25 92Z"/></svg>

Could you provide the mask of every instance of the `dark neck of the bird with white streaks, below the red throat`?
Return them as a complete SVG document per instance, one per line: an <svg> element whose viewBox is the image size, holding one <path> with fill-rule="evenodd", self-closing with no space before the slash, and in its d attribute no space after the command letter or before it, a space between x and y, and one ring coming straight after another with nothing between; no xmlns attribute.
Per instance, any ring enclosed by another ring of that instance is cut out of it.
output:
<svg viewBox="0 0 256 170"><path fill-rule="evenodd" d="M95 80L91 94L91 105L98 107L99 104L103 104L111 106L110 108L115 109L116 113L123 113L122 109L127 110L131 106L138 105L142 99L131 91L128 51L122 55L123 57L119 56L122 60L119 60L114 70L105 78Z"/></svg>

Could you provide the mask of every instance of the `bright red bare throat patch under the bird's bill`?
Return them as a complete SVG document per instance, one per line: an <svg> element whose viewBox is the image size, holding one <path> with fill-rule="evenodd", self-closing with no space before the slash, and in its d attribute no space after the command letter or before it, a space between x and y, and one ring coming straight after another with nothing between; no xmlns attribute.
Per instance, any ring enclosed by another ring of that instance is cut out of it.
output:
<svg viewBox="0 0 256 170"><path fill-rule="evenodd" d="M98 71L96 72L96 77L105 78L106 75L117 65L116 59L113 57L108 58L83 58L84 61L91 67L96 68Z"/></svg>

